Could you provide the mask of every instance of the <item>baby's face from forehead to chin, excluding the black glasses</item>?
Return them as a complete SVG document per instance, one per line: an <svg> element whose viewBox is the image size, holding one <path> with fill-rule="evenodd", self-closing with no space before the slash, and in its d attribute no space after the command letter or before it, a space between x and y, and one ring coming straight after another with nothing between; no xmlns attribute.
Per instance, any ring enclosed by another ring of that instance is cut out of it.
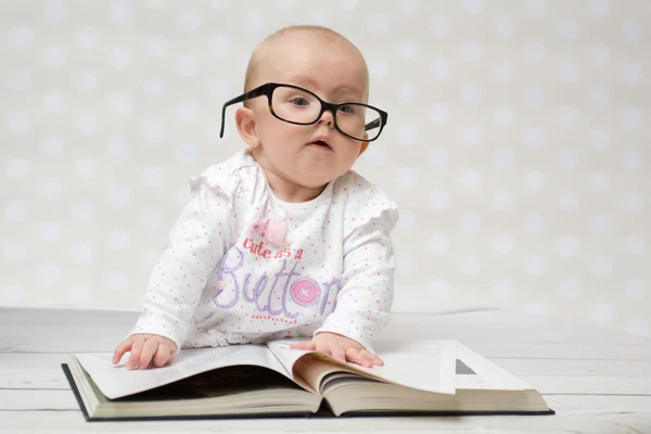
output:
<svg viewBox="0 0 651 434"><path fill-rule="evenodd" d="M279 82L307 89L331 103L367 102L366 64L348 44L297 34L269 47L260 62L252 88ZM304 104L299 93L288 97ZM260 164L297 186L324 186L349 170L359 156L362 142L336 130L331 112L324 112L316 124L293 125L276 118L264 98L253 100L251 108L266 158Z"/></svg>

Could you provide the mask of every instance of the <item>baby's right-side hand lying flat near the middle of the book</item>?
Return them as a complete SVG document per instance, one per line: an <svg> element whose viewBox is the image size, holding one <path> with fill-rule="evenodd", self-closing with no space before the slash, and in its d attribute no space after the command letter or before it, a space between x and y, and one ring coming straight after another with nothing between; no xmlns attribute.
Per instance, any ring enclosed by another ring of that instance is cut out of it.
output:
<svg viewBox="0 0 651 434"><path fill-rule="evenodd" d="M292 344L290 347L322 352L337 360L352 361L367 368L384 365L378 356L361 346L359 342L336 333L319 333L310 342Z"/></svg>

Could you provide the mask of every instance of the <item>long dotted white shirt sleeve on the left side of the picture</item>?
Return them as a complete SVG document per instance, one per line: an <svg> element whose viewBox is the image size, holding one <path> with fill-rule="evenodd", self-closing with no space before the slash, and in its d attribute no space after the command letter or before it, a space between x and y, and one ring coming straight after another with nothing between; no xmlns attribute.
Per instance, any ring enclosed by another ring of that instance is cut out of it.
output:
<svg viewBox="0 0 651 434"><path fill-rule="evenodd" d="M191 180L192 197L169 233L150 276L144 308L131 330L170 339L180 349L201 293L231 238L228 194L204 178Z"/></svg>

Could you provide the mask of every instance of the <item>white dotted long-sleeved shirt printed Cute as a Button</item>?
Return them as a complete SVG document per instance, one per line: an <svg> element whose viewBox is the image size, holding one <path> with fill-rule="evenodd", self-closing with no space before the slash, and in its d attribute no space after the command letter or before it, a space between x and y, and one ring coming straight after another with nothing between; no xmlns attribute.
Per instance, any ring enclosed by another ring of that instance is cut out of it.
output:
<svg viewBox="0 0 651 434"><path fill-rule="evenodd" d="M372 350L391 317L398 218L382 190L350 170L284 202L247 149L190 184L131 333L181 348L333 332ZM286 225L285 244L260 233L265 217Z"/></svg>

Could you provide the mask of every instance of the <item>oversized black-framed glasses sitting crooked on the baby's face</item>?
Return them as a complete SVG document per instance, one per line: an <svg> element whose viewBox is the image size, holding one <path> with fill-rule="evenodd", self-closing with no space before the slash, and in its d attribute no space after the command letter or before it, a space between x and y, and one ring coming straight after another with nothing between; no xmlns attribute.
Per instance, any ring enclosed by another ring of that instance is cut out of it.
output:
<svg viewBox="0 0 651 434"><path fill-rule="evenodd" d="M329 110L334 119L334 127L343 135L356 140L370 142L378 139L388 119L388 113L372 105L359 102L332 104L321 100L307 89L292 85L268 82L224 104L219 137L224 137L226 107L263 95L267 97L271 114L278 119L290 124L316 124L323 112Z"/></svg>

